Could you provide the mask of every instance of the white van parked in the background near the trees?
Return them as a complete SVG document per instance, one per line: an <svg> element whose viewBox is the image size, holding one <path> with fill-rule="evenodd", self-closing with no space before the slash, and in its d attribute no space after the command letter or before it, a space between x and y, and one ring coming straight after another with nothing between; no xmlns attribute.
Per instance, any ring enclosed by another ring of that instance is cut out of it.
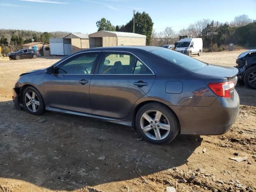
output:
<svg viewBox="0 0 256 192"><path fill-rule="evenodd" d="M202 38L185 38L179 40L175 51L191 56L193 54L201 55L203 51Z"/></svg>

